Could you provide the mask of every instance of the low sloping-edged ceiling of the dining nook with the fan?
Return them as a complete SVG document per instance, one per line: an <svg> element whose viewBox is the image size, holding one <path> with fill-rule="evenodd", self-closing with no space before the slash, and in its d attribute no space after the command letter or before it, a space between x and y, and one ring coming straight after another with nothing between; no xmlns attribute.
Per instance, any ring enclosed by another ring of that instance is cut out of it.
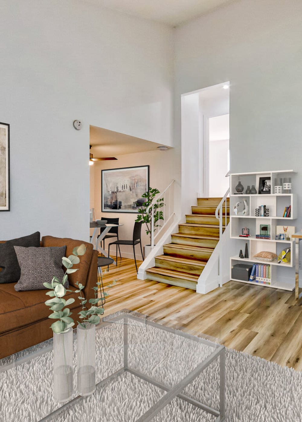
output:
<svg viewBox="0 0 302 422"><path fill-rule="evenodd" d="M97 126L90 126L90 144L92 145L90 152L95 158L154 151L162 145Z"/></svg>

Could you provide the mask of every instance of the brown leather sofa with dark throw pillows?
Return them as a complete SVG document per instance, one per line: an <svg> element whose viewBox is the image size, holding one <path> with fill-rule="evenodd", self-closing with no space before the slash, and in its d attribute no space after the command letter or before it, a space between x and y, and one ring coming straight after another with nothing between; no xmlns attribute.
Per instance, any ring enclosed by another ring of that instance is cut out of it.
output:
<svg viewBox="0 0 302 422"><path fill-rule="evenodd" d="M87 250L80 257L80 263L73 267L79 268L78 271L69 274L69 289L73 292L67 292L65 296L66 299L75 299L69 306L75 325L77 325L77 313L82 309L77 299L79 294L74 292L77 289L75 283L80 282L85 286L83 292L86 299L94 297L92 287L96 286L98 279L98 252L93 250L91 243L79 240L52 236L44 236L41 240L41 246L66 245L66 257L72 254L75 246L82 243ZM50 328L53 320L48 318L49 308L44 303L49 298L45 295L47 290L16 292L15 284L0 284L0 359L45 341L53 334Z"/></svg>

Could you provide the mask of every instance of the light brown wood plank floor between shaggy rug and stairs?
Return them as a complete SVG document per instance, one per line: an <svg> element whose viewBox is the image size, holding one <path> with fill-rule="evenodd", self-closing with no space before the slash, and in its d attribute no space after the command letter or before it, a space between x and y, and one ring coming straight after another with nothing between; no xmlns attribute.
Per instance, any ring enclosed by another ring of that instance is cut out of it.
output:
<svg viewBox="0 0 302 422"><path fill-rule="evenodd" d="M140 262L138 262L140 265ZM127 308L225 346L302 370L302 306L294 292L229 281L207 295L152 280L138 280L134 260L118 258L103 276L105 314ZM105 288L106 291L106 288Z"/></svg>

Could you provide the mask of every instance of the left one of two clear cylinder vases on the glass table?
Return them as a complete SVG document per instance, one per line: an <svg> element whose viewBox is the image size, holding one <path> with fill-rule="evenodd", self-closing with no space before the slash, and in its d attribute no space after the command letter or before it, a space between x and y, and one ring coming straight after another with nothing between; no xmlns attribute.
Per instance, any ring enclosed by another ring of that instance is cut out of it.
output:
<svg viewBox="0 0 302 422"><path fill-rule="evenodd" d="M62 403L73 393L73 331L53 333L53 395Z"/></svg>

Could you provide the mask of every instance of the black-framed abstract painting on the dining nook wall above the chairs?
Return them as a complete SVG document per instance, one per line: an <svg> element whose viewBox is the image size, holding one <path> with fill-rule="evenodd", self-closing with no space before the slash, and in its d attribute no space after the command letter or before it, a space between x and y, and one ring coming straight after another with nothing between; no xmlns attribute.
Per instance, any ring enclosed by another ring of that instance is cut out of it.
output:
<svg viewBox="0 0 302 422"><path fill-rule="evenodd" d="M102 212L137 212L148 187L148 165L102 170Z"/></svg>

